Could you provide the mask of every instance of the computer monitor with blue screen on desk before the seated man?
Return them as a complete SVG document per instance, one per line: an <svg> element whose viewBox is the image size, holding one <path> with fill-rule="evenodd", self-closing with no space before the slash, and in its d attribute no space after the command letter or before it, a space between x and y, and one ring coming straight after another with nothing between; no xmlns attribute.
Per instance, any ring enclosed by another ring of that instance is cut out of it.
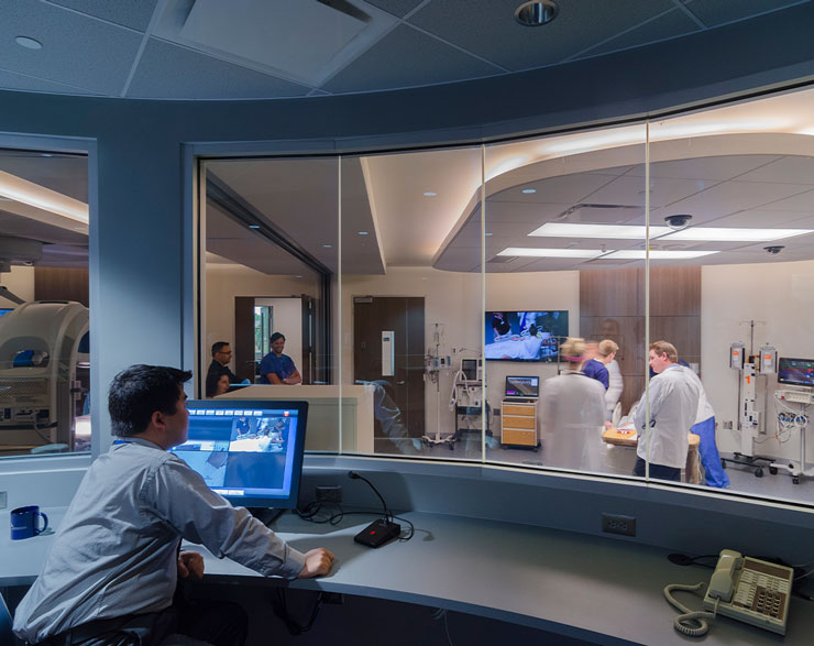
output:
<svg viewBox="0 0 814 646"><path fill-rule="evenodd" d="M307 402L189 399L188 439L173 452L244 507L297 506Z"/></svg>

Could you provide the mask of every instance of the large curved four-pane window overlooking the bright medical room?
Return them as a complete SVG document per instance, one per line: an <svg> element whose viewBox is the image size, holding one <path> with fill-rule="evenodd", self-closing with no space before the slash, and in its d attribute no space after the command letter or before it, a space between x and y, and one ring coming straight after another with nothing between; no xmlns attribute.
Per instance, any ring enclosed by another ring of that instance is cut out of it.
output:
<svg viewBox="0 0 814 646"><path fill-rule="evenodd" d="M810 503L813 101L469 147L207 162L201 366L223 337L243 357L238 376L262 382L268 335L312 326L294 392L327 406L310 449ZM250 280L255 248L284 270ZM283 296L321 314L283 326ZM239 340L246 298L254 327Z"/></svg>

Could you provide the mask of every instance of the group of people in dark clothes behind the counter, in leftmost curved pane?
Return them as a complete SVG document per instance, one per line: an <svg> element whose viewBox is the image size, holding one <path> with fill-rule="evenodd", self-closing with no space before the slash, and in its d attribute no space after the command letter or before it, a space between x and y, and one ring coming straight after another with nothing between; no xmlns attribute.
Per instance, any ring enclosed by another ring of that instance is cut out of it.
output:
<svg viewBox="0 0 814 646"><path fill-rule="evenodd" d="M271 352L260 362L261 384L286 384L294 385L302 383L294 360L284 354L286 338L280 332L274 332L270 340ZM210 399L229 392L231 384L239 383L235 374L229 369L232 360L232 348L228 341L212 343L212 362L209 364L206 381L206 397ZM249 383L249 382L245 382Z"/></svg>

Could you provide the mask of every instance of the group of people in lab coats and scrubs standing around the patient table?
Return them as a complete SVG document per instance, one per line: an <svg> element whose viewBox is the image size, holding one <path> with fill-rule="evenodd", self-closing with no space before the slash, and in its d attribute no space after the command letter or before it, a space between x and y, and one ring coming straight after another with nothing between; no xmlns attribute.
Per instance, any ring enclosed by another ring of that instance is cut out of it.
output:
<svg viewBox="0 0 814 646"><path fill-rule="evenodd" d="M601 434L612 426L622 396L622 373L615 361L618 349L609 339L591 344L571 338L562 344L560 352L568 368L547 380L540 394L546 463L603 470ZM630 412L638 433L634 474L644 477L649 462L651 478L680 480L689 450L688 433L694 433L700 436L706 484L728 486L729 478L722 468L715 442L715 412L701 380L688 365L679 363L678 350L667 341L650 344L649 364L654 374L649 405L642 396Z"/></svg>

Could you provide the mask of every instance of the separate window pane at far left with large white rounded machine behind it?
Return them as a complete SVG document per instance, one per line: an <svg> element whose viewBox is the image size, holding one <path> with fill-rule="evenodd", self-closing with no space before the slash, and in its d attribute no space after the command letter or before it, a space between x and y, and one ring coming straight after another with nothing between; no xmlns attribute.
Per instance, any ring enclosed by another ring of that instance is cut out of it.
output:
<svg viewBox="0 0 814 646"><path fill-rule="evenodd" d="M88 160L0 150L0 456L89 450Z"/></svg>

